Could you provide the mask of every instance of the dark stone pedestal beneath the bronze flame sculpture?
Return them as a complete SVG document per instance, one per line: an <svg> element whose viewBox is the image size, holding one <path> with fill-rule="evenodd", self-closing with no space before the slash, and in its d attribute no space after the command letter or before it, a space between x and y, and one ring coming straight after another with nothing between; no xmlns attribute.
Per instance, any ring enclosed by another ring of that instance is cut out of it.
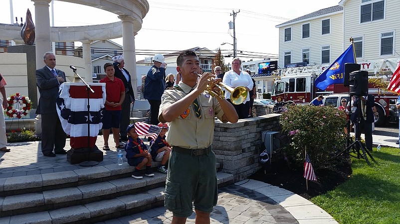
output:
<svg viewBox="0 0 400 224"><path fill-rule="evenodd" d="M8 53L26 53L26 74L28 79L28 96L32 100L32 108L37 108L36 88L36 50L34 45L15 45L7 47Z"/></svg>

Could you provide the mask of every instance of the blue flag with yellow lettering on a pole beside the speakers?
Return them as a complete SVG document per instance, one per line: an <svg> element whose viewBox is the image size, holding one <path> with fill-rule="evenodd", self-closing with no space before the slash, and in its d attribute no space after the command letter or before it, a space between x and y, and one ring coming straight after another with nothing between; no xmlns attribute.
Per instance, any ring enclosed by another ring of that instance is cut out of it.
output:
<svg viewBox="0 0 400 224"><path fill-rule="evenodd" d="M329 85L343 83L345 63L355 63L353 44L331 66L324 69L324 72L315 80L315 86L320 90L325 90Z"/></svg>

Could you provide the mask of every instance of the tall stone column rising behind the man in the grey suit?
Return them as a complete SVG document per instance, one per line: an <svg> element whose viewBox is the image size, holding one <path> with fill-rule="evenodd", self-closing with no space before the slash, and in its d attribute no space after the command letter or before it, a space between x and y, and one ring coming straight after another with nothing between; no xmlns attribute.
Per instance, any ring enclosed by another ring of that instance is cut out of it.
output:
<svg viewBox="0 0 400 224"><path fill-rule="evenodd" d="M36 44L36 68L42 68L43 55L51 51L50 37L50 13L51 0L32 0L35 6L35 44Z"/></svg>

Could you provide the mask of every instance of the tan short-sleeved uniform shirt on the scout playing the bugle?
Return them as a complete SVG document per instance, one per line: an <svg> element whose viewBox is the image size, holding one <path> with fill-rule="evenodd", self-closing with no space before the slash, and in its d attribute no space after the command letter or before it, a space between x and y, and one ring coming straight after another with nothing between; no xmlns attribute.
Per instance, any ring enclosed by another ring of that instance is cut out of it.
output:
<svg viewBox="0 0 400 224"><path fill-rule="evenodd" d="M183 91L174 88L173 90L166 90L164 92L159 117L164 108L184 98L192 89L196 88L196 86L191 88L182 82L179 83L178 86L180 86ZM216 116L222 121L223 111L218 101L214 97L209 96L207 92L200 94L197 100L201 106L200 119L196 116L193 104L191 104L188 108L189 111L183 111L181 115L170 122L170 129L166 140L172 146L198 149L207 148L211 145L214 136L214 117ZM187 114L188 112L189 114Z"/></svg>

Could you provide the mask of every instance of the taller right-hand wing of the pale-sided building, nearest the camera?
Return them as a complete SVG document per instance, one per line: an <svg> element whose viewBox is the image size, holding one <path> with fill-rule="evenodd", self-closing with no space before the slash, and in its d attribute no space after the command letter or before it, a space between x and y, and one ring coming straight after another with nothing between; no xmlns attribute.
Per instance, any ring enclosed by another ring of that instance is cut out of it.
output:
<svg viewBox="0 0 400 224"><path fill-rule="evenodd" d="M341 0L339 5L343 6L342 39L348 43L349 37L354 38L357 63L370 73L393 70L400 60L396 35L400 31L400 0Z"/></svg>

